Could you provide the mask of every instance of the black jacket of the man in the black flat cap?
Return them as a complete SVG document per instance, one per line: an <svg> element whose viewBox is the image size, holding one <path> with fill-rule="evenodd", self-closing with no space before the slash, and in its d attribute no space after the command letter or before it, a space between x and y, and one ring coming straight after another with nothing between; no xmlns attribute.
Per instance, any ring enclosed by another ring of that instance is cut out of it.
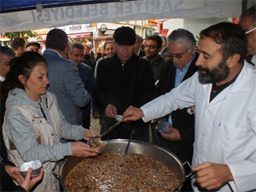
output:
<svg viewBox="0 0 256 192"><path fill-rule="evenodd" d="M93 95L99 108L102 131L106 131L115 123L115 119L105 115L108 104L113 104L122 115L129 106L140 108L154 98L154 74L148 61L135 54L124 65L116 54L103 59L97 67ZM119 125L107 138L127 139L132 128L136 129L132 138L143 140L147 124L142 119Z"/></svg>

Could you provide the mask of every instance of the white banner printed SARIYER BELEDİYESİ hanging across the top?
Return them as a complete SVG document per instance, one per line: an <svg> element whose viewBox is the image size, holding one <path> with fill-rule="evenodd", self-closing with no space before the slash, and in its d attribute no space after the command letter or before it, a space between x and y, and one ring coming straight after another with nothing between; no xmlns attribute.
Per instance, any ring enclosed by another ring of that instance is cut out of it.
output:
<svg viewBox="0 0 256 192"><path fill-rule="evenodd" d="M137 0L0 14L0 33L84 23L167 18L234 18L241 0Z"/></svg>

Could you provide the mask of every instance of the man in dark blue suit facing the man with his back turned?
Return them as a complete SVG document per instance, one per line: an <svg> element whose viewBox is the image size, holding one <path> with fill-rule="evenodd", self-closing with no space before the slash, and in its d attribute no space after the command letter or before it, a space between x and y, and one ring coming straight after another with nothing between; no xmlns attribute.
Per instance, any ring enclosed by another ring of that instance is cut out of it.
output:
<svg viewBox="0 0 256 192"><path fill-rule="evenodd" d="M90 94L90 103L81 108L83 116L83 126L86 129L90 129L90 108L92 108L92 117L96 119L98 116L96 103L92 95L92 87L94 83L94 75L91 67L83 63L84 59L84 44L75 42L70 45L68 50L68 57L70 61L73 61L78 69L79 76L84 84L84 89Z"/></svg>

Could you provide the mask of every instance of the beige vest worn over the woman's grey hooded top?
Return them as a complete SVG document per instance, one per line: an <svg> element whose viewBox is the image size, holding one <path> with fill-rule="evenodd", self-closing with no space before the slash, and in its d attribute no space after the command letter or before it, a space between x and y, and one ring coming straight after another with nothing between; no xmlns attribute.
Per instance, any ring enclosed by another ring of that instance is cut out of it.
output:
<svg viewBox="0 0 256 192"><path fill-rule="evenodd" d="M39 144L49 145L52 146L55 143L61 142L61 121L60 116L57 110L57 107L55 105L55 102L53 102L53 97L48 93L47 95L48 103L49 103L49 114L50 117L58 129L56 129L55 132L53 130L53 127L49 125L49 122L44 119L41 115L37 113L35 108L28 105L12 105L6 110L8 111L10 108L17 108L20 110L20 112L24 115L26 120L32 125L34 128L35 137L38 140ZM4 143L7 147L9 160L13 162L16 166L20 166L22 163L26 162L22 160L20 157L20 154L17 152L14 146L12 146L12 143L10 142L9 138L6 136L5 131L3 129L3 138ZM39 183L37 187L33 191L60 191L60 184L58 180L55 178L55 176L52 174L52 169L55 166L55 162L45 162L43 164L44 167L44 177L43 182Z"/></svg>

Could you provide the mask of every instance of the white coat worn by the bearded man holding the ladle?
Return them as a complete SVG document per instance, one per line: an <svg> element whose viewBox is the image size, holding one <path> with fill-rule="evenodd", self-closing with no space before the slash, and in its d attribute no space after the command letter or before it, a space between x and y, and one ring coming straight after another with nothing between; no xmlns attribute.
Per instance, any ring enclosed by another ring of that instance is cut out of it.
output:
<svg viewBox="0 0 256 192"><path fill-rule="evenodd" d="M209 102L212 84L201 84L198 73L142 107L143 120L159 118L177 108L195 105L192 166L226 164L234 182L219 191L256 189L256 68L245 62L236 81ZM229 186L230 185L230 186ZM195 187L195 191L198 189Z"/></svg>

